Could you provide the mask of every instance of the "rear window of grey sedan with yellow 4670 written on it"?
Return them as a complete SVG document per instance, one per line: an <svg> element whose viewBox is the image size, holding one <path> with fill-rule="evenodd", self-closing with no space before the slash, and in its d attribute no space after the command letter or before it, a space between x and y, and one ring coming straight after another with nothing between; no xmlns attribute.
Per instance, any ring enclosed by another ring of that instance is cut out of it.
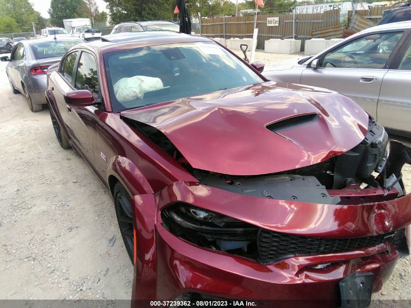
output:
<svg viewBox="0 0 411 308"><path fill-rule="evenodd" d="M31 48L35 59L45 59L62 56L71 46L77 45L81 42L83 42L83 40L56 39L51 41L33 43L31 44Z"/></svg>

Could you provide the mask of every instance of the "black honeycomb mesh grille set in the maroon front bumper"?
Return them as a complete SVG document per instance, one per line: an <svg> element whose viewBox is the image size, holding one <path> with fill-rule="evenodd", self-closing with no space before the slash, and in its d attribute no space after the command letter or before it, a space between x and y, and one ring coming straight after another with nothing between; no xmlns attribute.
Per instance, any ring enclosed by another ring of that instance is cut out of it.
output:
<svg viewBox="0 0 411 308"><path fill-rule="evenodd" d="M396 231L358 238L322 238L294 236L261 229L258 234L258 253L262 263L290 255L343 253L381 244L394 238Z"/></svg>

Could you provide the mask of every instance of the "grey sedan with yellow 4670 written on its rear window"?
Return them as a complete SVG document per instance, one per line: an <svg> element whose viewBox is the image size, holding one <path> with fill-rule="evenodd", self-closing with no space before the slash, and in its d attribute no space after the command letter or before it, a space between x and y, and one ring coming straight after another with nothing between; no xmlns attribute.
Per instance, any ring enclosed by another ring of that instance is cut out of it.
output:
<svg viewBox="0 0 411 308"><path fill-rule="evenodd" d="M47 103L44 94L47 89L47 69L59 62L71 46L81 42L84 40L70 37L18 42L10 57L0 57L1 61L9 61L6 73L13 93L23 93L32 111L42 110Z"/></svg>

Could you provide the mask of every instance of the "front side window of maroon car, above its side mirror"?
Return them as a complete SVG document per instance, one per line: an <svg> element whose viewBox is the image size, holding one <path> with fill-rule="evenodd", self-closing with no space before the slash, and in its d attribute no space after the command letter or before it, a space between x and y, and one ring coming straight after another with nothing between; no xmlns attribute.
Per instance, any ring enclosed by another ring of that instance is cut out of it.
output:
<svg viewBox="0 0 411 308"><path fill-rule="evenodd" d="M100 86L97 76L97 64L94 57L83 52L78 61L75 88L79 90L89 90L94 98L98 98Z"/></svg>

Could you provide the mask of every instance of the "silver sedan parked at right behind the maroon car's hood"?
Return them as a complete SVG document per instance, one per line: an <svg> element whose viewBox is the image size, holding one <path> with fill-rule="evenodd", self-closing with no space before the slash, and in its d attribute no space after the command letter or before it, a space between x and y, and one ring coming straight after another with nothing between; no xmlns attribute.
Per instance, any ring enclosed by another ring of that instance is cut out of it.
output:
<svg viewBox="0 0 411 308"><path fill-rule="evenodd" d="M389 131L411 136L411 21L366 29L320 54L266 66L263 74L338 91Z"/></svg>

